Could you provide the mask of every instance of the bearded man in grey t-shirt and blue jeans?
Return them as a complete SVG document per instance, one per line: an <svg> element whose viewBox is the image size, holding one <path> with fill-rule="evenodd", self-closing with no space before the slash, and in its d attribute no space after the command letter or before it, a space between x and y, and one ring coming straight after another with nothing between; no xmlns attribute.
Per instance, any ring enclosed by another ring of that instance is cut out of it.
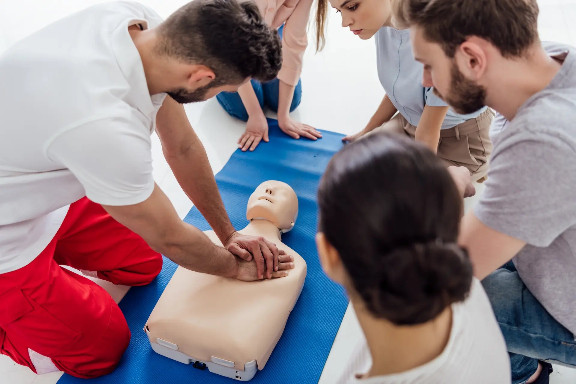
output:
<svg viewBox="0 0 576 384"><path fill-rule="evenodd" d="M458 113L486 104L506 121L460 242L486 277L512 382L546 383L544 360L576 365L576 49L540 43L536 0L456 3L406 0L396 18L425 86ZM468 174L451 172L464 191Z"/></svg>

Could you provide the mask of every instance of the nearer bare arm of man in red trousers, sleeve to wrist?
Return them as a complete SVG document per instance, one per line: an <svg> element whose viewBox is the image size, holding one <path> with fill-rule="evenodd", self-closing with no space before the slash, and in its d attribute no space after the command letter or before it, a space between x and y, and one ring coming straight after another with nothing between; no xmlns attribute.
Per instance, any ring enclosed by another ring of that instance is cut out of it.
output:
<svg viewBox="0 0 576 384"><path fill-rule="evenodd" d="M152 249L176 264L210 275L238 275L240 259L214 245L198 228L180 220L157 185L142 203L103 207L115 220L140 235Z"/></svg>

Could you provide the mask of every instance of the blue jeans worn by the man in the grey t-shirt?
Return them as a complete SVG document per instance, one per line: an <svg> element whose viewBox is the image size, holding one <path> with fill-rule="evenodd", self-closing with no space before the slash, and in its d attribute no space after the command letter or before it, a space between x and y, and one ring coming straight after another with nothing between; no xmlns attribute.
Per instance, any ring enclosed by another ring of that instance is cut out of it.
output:
<svg viewBox="0 0 576 384"><path fill-rule="evenodd" d="M506 340L512 384L528 381L538 360L576 366L574 335L530 293L511 261L492 272L482 285Z"/></svg>

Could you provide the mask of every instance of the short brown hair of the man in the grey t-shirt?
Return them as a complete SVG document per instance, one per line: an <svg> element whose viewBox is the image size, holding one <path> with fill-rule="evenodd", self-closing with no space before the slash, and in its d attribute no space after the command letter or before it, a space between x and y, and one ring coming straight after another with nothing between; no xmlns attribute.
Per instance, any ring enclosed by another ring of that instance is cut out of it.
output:
<svg viewBox="0 0 576 384"><path fill-rule="evenodd" d="M418 25L449 57L469 36L490 41L502 56L521 56L539 41L536 0L393 0L398 24Z"/></svg>

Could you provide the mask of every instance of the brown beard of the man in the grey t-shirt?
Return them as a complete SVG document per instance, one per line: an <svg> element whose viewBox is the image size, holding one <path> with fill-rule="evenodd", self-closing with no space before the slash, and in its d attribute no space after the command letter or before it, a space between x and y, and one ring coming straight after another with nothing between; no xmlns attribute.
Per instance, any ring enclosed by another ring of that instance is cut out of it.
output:
<svg viewBox="0 0 576 384"><path fill-rule="evenodd" d="M477 85L464 77L456 63L452 63L452 81L450 82L450 94L443 97L434 88L434 94L446 101L456 113L468 115L474 113L486 105L486 88Z"/></svg>

